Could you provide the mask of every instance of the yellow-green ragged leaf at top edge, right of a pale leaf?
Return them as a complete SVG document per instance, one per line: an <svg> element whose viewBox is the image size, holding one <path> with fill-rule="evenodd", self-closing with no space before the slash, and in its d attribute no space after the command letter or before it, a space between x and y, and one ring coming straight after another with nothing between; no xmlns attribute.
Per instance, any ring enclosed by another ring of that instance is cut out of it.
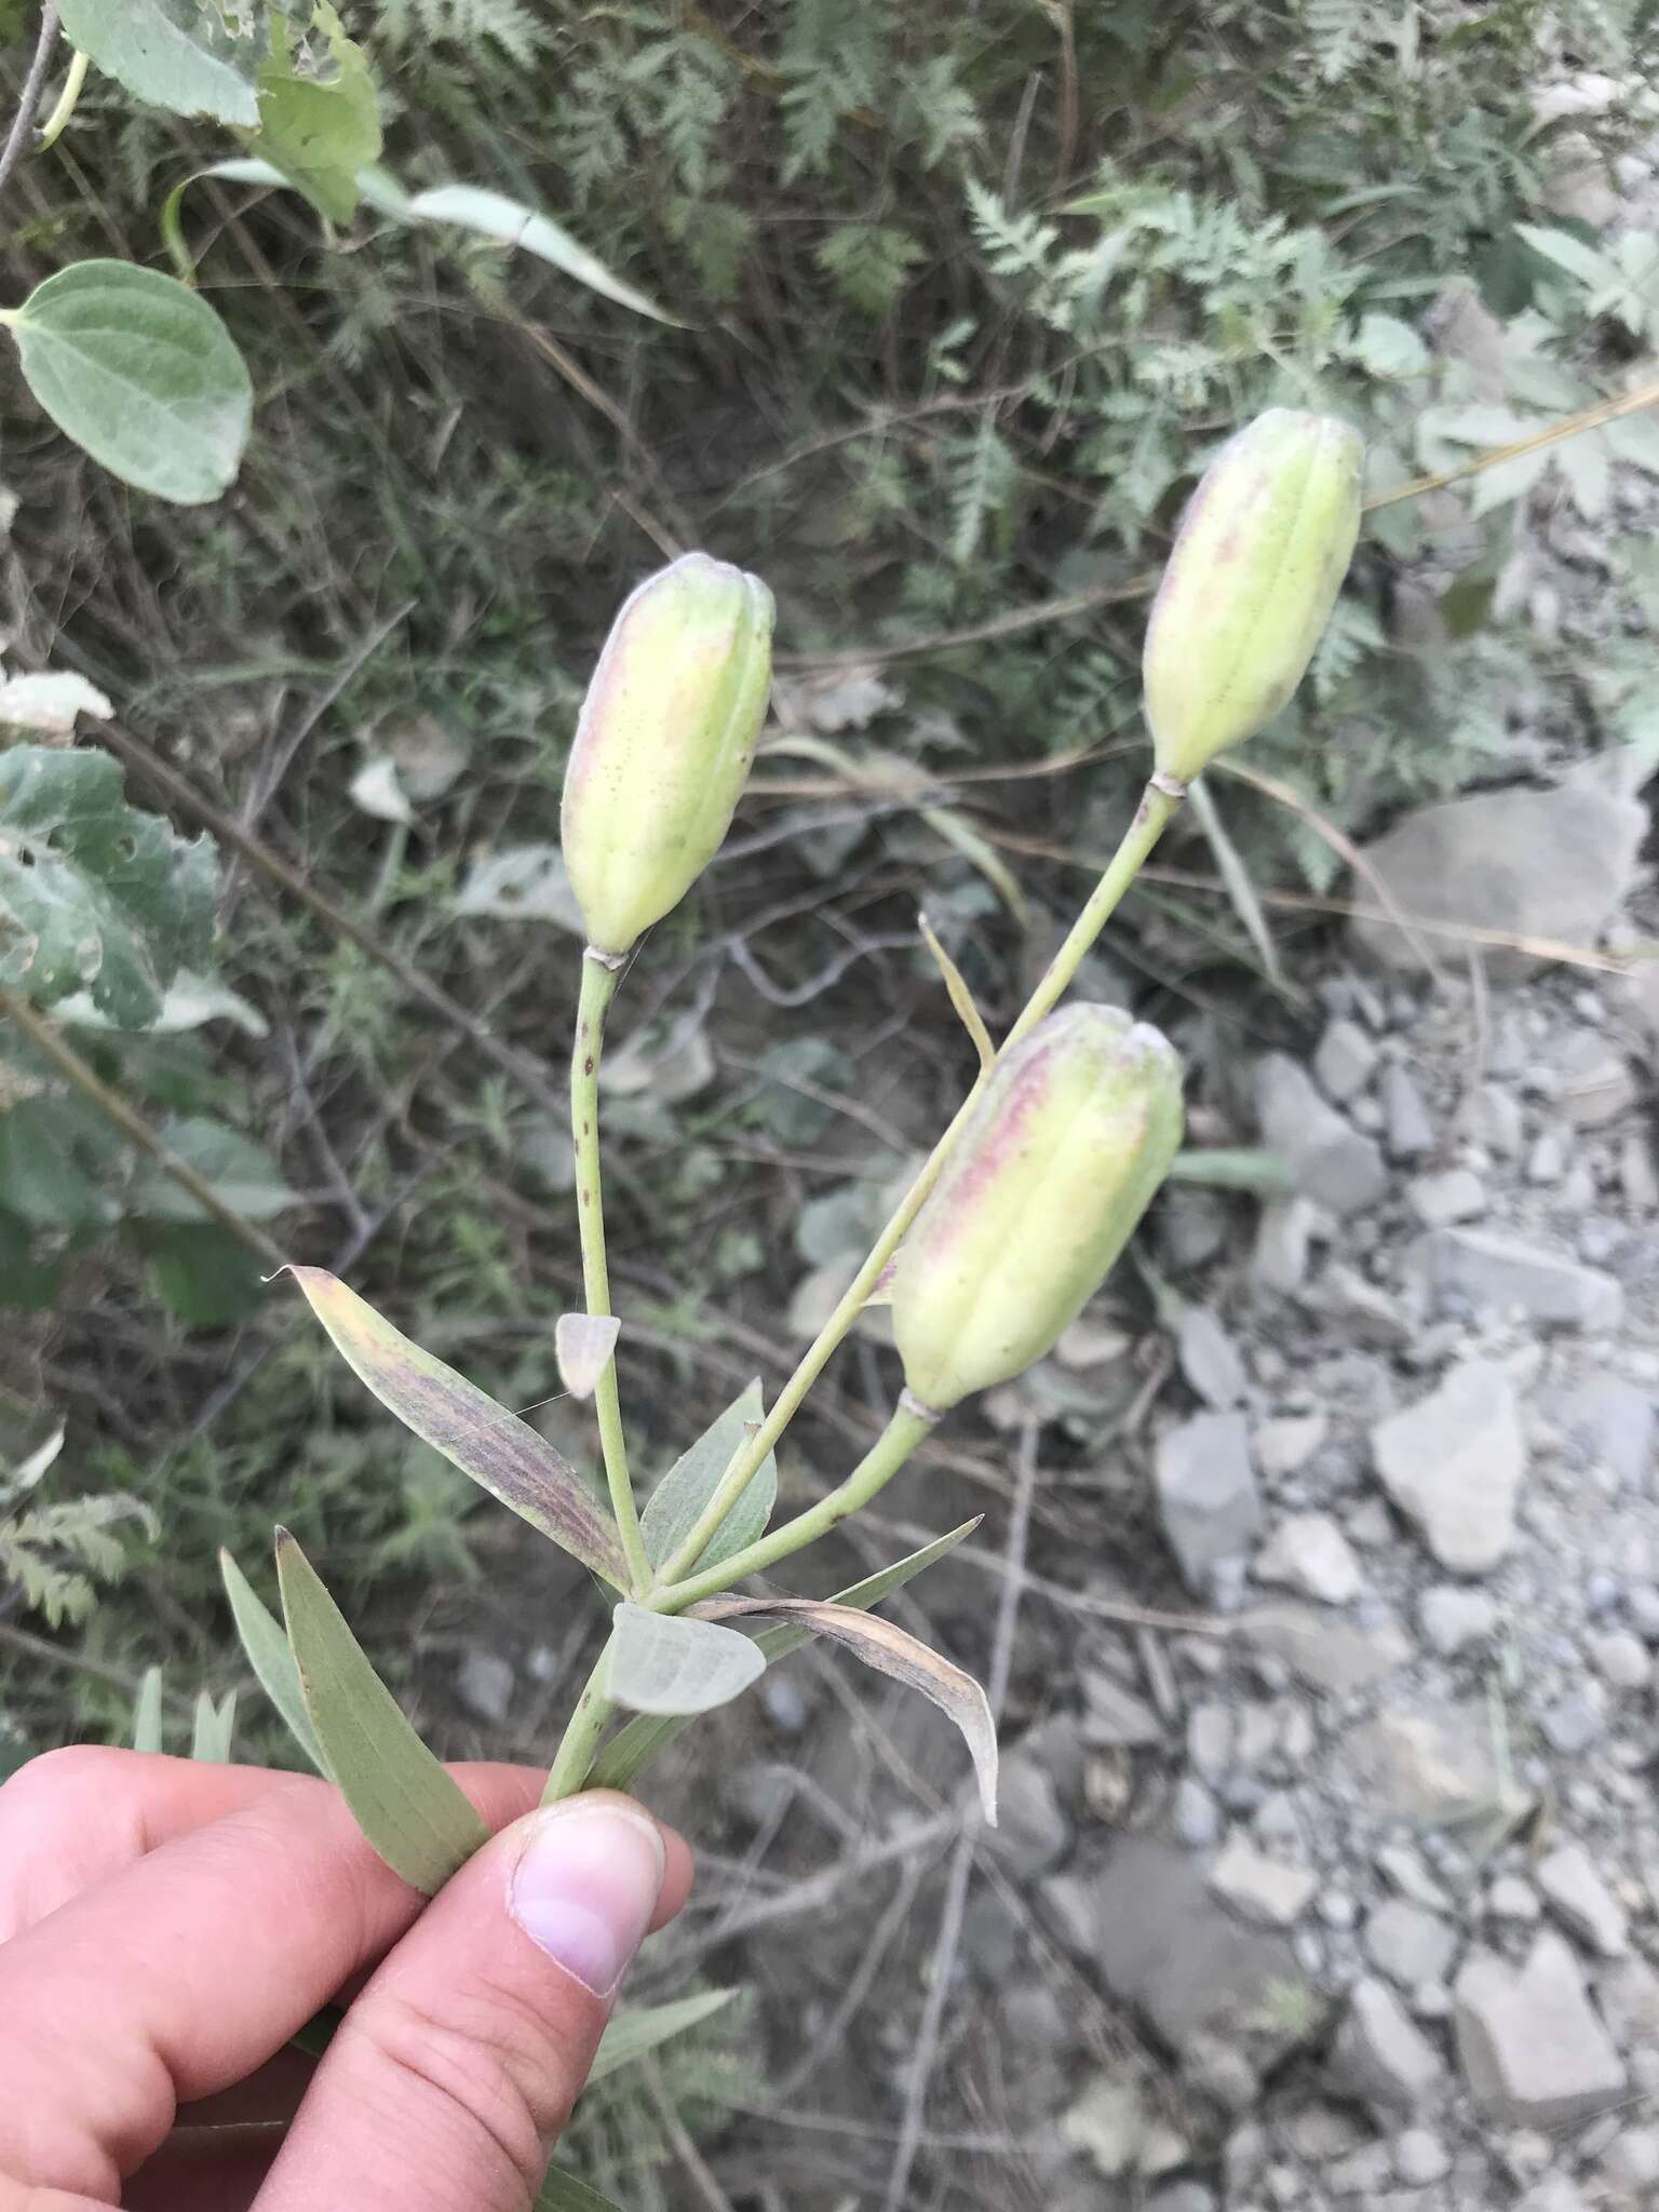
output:
<svg viewBox="0 0 1659 2212"><path fill-rule="evenodd" d="M294 42L285 15L272 22L259 71L257 159L279 168L334 223L361 199L358 170L380 159L380 108L363 49L347 38L330 0L314 0L310 40Z"/></svg>

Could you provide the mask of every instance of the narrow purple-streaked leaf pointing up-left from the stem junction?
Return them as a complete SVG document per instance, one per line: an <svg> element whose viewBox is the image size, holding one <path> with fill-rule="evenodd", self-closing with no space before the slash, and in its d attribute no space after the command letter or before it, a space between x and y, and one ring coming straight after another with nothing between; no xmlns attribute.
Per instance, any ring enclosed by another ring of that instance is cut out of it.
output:
<svg viewBox="0 0 1659 2212"><path fill-rule="evenodd" d="M462 1475L500 1498L582 1566L628 1588L615 1531L602 1520L582 1478L562 1453L476 1383L411 1345L325 1267L290 1267L312 1312L347 1367L405 1429L440 1451Z"/></svg>

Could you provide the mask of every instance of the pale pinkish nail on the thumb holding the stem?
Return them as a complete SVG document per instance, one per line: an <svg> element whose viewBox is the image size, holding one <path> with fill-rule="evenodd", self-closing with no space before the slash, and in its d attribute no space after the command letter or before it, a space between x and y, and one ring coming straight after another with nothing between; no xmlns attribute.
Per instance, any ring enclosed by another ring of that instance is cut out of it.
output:
<svg viewBox="0 0 1659 2212"><path fill-rule="evenodd" d="M507 1909L595 1997L622 1980L657 1909L666 1854L655 1820L624 1805L549 1805L538 1814Z"/></svg>

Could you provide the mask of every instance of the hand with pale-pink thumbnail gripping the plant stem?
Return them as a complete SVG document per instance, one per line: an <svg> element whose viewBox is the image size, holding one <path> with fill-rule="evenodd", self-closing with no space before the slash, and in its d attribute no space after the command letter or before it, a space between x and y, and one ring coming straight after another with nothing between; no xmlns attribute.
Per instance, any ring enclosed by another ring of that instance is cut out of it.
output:
<svg viewBox="0 0 1659 2212"><path fill-rule="evenodd" d="M451 1770L425 1905L338 1792L49 1752L0 1790L0 2212L526 2212L690 1851L628 1798ZM327 2053L290 2037L347 2002Z"/></svg>

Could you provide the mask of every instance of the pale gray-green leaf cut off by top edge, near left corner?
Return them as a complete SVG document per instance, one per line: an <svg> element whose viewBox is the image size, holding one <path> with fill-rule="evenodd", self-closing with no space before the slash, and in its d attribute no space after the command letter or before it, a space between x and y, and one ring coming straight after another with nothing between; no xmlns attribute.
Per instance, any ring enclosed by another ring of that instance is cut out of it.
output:
<svg viewBox="0 0 1659 2212"><path fill-rule="evenodd" d="M254 80L265 53L263 0L239 9L246 29L226 9L204 0L60 0L64 38L91 53L150 106L175 115L212 115L221 124L259 122Z"/></svg>

